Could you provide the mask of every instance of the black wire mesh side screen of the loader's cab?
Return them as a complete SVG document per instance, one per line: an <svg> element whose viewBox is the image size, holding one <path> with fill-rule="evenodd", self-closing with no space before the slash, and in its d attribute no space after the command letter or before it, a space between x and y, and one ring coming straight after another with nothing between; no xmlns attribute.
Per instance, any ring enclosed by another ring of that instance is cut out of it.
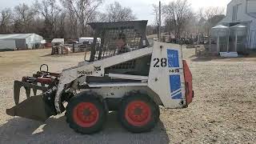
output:
<svg viewBox="0 0 256 144"><path fill-rule="evenodd" d="M100 42L94 41L91 46L90 62L149 46L145 34L146 24L147 21L90 23L95 31L94 39L100 38ZM116 68L132 68L134 63L125 62Z"/></svg>

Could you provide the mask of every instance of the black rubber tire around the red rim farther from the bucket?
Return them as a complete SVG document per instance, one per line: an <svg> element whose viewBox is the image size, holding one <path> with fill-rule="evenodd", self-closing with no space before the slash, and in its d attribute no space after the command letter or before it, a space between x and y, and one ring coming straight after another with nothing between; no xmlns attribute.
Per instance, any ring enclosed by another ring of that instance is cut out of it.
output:
<svg viewBox="0 0 256 144"><path fill-rule="evenodd" d="M146 117L146 119L149 118L149 120L145 121L143 124L138 125L131 123L131 119L127 119L127 117L129 117L129 114L127 114L127 107L131 105L131 102L145 103L150 110L150 116ZM143 133L152 130L159 121L159 115L159 106L153 102L153 100L151 100L146 94L132 94L130 96L126 96L123 98L122 104L118 110L118 119L122 123L122 126L132 133Z"/></svg>

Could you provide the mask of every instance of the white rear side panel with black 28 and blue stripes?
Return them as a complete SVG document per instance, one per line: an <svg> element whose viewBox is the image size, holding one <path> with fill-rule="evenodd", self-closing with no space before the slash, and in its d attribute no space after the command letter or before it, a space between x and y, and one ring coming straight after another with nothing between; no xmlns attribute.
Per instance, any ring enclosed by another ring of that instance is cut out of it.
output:
<svg viewBox="0 0 256 144"><path fill-rule="evenodd" d="M155 42L148 86L166 108L186 106L182 50L179 45Z"/></svg>

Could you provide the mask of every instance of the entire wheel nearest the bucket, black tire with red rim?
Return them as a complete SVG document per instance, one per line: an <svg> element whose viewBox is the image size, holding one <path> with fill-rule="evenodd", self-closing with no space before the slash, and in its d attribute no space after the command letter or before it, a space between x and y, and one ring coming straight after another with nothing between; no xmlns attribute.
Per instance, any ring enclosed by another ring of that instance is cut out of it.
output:
<svg viewBox="0 0 256 144"><path fill-rule="evenodd" d="M66 107L66 121L81 134L94 134L106 122L106 109L98 98L80 93L70 99Z"/></svg>

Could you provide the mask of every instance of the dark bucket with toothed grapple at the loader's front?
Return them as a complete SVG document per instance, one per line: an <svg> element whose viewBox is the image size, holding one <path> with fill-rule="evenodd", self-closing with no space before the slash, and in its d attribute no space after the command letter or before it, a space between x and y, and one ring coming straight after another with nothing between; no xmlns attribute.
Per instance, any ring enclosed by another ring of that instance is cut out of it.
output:
<svg viewBox="0 0 256 144"><path fill-rule="evenodd" d="M47 66L48 70L48 66ZM54 97L57 92L60 74L40 71L33 77L23 77L22 82L14 81L14 102L16 106L7 109L6 114L45 122L51 115L56 115ZM20 89L26 90L26 100L19 102ZM33 90L34 96L30 96ZM42 94L38 94L38 90Z"/></svg>

